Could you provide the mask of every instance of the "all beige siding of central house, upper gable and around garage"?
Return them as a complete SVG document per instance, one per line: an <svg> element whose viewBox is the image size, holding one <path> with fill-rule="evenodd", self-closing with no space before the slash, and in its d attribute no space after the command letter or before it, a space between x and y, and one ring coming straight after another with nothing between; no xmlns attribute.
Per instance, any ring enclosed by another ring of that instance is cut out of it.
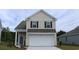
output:
<svg viewBox="0 0 79 59"><path fill-rule="evenodd" d="M27 32L27 29L33 29L33 28L30 28L30 21L38 21L39 22L38 29L45 29L44 22L52 21L52 29L56 28L55 20L53 20L52 18L50 18L49 16L47 16L46 14L44 14L42 12L30 17L28 20L26 20L26 46L29 46L29 33ZM31 34L49 34L49 33L31 33ZM54 34L55 34L54 35L54 37L55 37L54 44L56 46L57 45L56 33L54 33Z"/></svg>

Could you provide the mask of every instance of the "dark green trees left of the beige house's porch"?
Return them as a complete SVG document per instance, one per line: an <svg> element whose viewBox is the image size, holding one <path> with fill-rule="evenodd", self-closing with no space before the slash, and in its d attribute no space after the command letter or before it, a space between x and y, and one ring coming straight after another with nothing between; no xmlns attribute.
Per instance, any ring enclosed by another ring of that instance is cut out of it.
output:
<svg viewBox="0 0 79 59"><path fill-rule="evenodd" d="M14 33L10 31L9 27L3 28L1 41L8 43L8 45L10 46L13 45L14 43L13 37L14 37Z"/></svg>

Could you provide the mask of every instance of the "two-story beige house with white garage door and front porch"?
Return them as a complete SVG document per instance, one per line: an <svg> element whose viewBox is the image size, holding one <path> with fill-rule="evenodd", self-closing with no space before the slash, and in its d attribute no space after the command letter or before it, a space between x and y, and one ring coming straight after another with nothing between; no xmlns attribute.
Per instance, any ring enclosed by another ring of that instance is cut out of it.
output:
<svg viewBox="0 0 79 59"><path fill-rule="evenodd" d="M53 47L56 40L56 18L40 10L16 28L16 47Z"/></svg>

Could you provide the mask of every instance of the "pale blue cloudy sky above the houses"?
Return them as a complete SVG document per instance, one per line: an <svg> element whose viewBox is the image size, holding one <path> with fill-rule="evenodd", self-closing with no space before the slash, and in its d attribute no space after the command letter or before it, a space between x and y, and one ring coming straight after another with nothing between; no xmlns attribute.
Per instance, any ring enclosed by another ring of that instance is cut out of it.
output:
<svg viewBox="0 0 79 59"><path fill-rule="evenodd" d="M0 9L0 19L3 27L15 31L15 27L27 17L40 9ZM44 9L57 19L56 30L71 31L79 26L79 9Z"/></svg>

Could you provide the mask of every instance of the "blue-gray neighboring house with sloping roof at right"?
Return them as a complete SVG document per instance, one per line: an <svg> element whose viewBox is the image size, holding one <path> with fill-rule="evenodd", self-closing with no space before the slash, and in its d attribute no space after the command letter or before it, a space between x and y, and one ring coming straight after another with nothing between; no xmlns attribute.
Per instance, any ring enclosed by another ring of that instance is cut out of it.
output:
<svg viewBox="0 0 79 59"><path fill-rule="evenodd" d="M79 45L79 26L66 34L58 36L58 40L65 44Z"/></svg>

